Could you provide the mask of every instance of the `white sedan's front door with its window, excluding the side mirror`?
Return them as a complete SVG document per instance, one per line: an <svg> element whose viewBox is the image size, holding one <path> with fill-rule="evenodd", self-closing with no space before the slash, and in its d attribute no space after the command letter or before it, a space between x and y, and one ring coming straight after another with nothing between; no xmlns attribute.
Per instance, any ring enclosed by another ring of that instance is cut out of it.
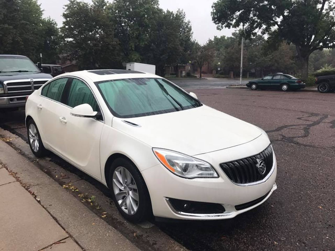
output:
<svg viewBox="0 0 335 251"><path fill-rule="evenodd" d="M70 114L73 107L89 104L94 111L100 111L95 97L86 83L73 78L67 94L67 110L64 130L64 156L76 167L101 179L100 171L100 136L104 126L103 118L76 117Z"/></svg>

